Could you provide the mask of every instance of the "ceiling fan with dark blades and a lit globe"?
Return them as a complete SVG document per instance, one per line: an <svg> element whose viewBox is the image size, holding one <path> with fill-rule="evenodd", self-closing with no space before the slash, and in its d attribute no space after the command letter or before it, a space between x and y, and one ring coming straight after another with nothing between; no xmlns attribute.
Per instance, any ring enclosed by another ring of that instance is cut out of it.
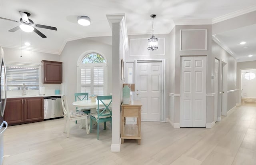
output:
<svg viewBox="0 0 256 165"><path fill-rule="evenodd" d="M8 20L8 21L13 21L13 22L21 22L21 24L19 26L16 26L15 28L12 28L11 30L8 30L9 32L16 32L17 30L21 29L25 32L32 32L34 31L36 34L38 34L39 36L41 36L42 38L46 38L46 36L44 34L42 34L39 30L37 30L36 28L44 28L44 29L50 29L50 30L57 30L56 27L52 27L52 26L46 26L46 25L40 25L40 24L34 24L34 22L30 19L28 19L28 17L30 16L30 13L28 12L20 12L20 21L15 21L15 20L11 20L8 18L2 18L4 20Z"/></svg>

